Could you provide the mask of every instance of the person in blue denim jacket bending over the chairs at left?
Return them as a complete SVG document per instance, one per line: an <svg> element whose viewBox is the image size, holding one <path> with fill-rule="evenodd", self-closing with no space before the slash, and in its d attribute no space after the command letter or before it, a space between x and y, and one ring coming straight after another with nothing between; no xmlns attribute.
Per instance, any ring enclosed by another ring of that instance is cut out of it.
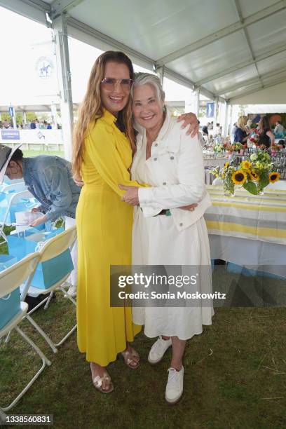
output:
<svg viewBox="0 0 286 429"><path fill-rule="evenodd" d="M39 201L39 207L32 211L41 212L42 216L32 222L38 226L58 217L65 218L66 228L75 224L76 205L81 188L74 182L71 163L59 156L39 155L26 158L20 145L11 149L0 145L0 183L4 175L9 179L23 179L27 189ZM71 287L68 293L76 295L77 248L71 252L74 271L71 273Z"/></svg>

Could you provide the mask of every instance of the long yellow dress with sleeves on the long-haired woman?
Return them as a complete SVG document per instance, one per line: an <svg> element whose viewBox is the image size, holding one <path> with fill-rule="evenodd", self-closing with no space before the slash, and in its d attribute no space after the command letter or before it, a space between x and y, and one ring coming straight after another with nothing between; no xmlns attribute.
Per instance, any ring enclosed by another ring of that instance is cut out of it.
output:
<svg viewBox="0 0 286 429"><path fill-rule="evenodd" d="M121 201L118 184L130 181L130 142L116 118L104 110L85 140L81 190L76 210L78 231L78 346L88 362L106 366L125 350L141 327L131 308L109 305L110 265L131 264L132 206Z"/></svg>

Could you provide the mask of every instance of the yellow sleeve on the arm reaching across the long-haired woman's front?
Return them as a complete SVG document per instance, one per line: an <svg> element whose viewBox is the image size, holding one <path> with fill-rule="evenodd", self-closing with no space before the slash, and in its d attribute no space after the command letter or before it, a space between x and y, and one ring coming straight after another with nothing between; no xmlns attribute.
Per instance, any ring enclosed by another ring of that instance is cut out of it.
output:
<svg viewBox="0 0 286 429"><path fill-rule="evenodd" d="M109 132L104 124L97 123L95 128L90 132L90 135L86 138L86 151L88 151L93 165L104 182L106 182L118 196L123 196L125 194L125 191L118 188L118 184L126 186L146 186L134 180L130 180L130 172L124 165L116 149L116 135L114 135L113 132Z"/></svg>

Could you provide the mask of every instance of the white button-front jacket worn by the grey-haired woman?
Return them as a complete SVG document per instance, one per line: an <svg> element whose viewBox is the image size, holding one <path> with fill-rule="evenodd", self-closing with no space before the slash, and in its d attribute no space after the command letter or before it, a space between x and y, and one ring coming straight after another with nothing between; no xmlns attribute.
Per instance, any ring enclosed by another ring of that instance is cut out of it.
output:
<svg viewBox="0 0 286 429"><path fill-rule="evenodd" d="M156 216L163 209L170 209L177 229L182 231L203 216L211 200L205 189L203 154L198 137L191 138L167 111L165 122L151 147L151 157L146 161L152 183L150 188L139 188L139 205L144 217ZM137 135L137 153L132 163L132 179L138 179L136 165L146 158L147 137L144 129ZM198 203L195 210L183 207Z"/></svg>

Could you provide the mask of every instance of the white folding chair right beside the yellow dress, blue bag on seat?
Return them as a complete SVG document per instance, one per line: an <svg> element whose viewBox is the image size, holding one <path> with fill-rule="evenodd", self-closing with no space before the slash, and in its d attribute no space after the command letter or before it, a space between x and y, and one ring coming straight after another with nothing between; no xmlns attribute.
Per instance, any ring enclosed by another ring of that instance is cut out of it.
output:
<svg viewBox="0 0 286 429"><path fill-rule="evenodd" d="M39 264L41 262L46 262L49 259L53 259L57 257L59 254L64 252L65 250L72 248L76 241L76 226L72 226L69 229L66 229L62 233L58 234L57 236L50 238L50 240L46 241L46 243L43 244L43 247L39 251L40 253L40 259ZM25 288L22 290L21 293L21 300L24 301L27 292L29 291L29 295L32 297L37 297L39 294L47 294L48 297L43 299L36 307L34 307L29 313L27 313L26 318L29 320L29 322L36 328L36 330L43 336L43 339L46 340L50 348L53 350L54 353L57 353L57 347L61 346L64 341L74 332L77 325L74 325L74 327L64 336L64 338L59 341L58 343L54 343L50 337L46 334L46 332L39 327L39 325L32 319L31 314L36 311L36 309L41 306L45 301L48 302L51 298L50 292L55 292L55 290L60 290L63 294L66 294L66 290L64 290L63 283L67 278L69 277L69 273L64 275L60 280L55 282L52 286L48 287L48 289L39 289L39 287L34 287L30 285L26 285ZM72 297L69 297L67 295L67 298L76 306L76 301Z"/></svg>

